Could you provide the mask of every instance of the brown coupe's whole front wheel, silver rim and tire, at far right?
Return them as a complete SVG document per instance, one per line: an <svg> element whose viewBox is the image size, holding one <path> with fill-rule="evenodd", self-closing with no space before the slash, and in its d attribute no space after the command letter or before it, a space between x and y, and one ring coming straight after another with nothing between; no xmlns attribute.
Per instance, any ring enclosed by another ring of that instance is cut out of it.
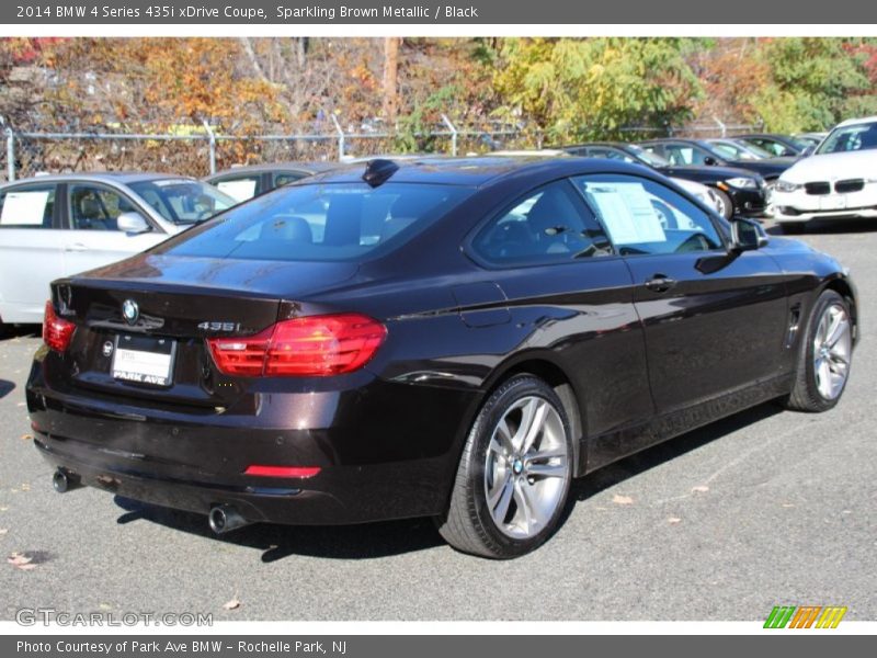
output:
<svg viewBox="0 0 877 658"><path fill-rule="evenodd" d="M853 356L850 306L834 291L817 299L802 337L795 387L786 406L799 411L827 411L843 395Z"/></svg>

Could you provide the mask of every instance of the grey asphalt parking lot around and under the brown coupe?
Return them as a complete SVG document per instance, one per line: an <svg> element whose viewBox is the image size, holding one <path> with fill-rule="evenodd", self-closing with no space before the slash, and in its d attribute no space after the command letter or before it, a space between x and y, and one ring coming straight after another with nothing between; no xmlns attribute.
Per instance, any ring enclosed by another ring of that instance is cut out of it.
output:
<svg viewBox="0 0 877 658"><path fill-rule="evenodd" d="M776 604L834 604L877 620L877 223L804 239L859 288L864 339L840 406L765 405L595 473L546 546L504 563L454 552L429 520L216 538L203 517L93 489L59 496L30 439L39 339L23 328L0 341L0 552L31 560L0 563L0 619L763 620Z"/></svg>

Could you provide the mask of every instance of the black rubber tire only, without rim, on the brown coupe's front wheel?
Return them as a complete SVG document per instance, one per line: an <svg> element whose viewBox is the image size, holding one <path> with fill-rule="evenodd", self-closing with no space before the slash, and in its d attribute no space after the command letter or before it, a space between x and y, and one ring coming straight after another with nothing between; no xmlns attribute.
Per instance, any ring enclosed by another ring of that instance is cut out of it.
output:
<svg viewBox="0 0 877 658"><path fill-rule="evenodd" d="M846 383L850 381L848 371L850 365L852 365L852 334L848 353L850 365L847 365L846 378L835 397L828 398L820 393L815 364L815 338L819 328L819 322L825 310L834 305L840 305L840 307L843 308L850 321L850 331L852 332L852 315L846 299L834 291L824 291L819 295L819 298L813 305L810 317L807 319L805 332L801 336L801 344L798 350L798 364L795 368L795 386L789 396L782 400L787 409L809 412L828 411L833 408L843 396Z"/></svg>

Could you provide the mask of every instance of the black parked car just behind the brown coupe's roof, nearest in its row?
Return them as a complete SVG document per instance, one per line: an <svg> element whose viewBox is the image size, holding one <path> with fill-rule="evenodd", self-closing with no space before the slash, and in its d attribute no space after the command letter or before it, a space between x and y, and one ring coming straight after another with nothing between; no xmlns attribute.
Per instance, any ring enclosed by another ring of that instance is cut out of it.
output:
<svg viewBox="0 0 877 658"><path fill-rule="evenodd" d="M687 180L707 185L719 214L726 219L738 215L761 217L770 205L770 190L758 173L731 167L676 166L636 144L594 141L565 147L571 155L585 158L608 158L646 164L674 180Z"/></svg>

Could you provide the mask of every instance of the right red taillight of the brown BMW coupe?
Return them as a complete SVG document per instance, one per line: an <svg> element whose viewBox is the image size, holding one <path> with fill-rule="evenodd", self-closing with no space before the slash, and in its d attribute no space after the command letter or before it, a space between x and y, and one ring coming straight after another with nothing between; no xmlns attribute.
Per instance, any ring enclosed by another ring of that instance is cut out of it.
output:
<svg viewBox="0 0 877 658"><path fill-rule="evenodd" d="M327 377L365 365L387 329L367 316L344 314L284 320L253 336L209 338L216 367L244 377Z"/></svg>

